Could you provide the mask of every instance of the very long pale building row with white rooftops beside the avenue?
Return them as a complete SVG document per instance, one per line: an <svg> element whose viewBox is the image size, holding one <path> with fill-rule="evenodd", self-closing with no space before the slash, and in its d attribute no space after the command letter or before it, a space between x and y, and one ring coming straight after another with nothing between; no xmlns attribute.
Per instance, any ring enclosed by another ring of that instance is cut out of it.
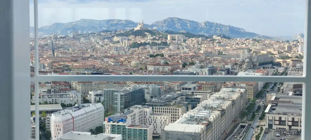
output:
<svg viewBox="0 0 311 140"><path fill-rule="evenodd" d="M224 88L165 126L161 138L174 139L178 136L181 139L220 140L244 110L245 96L245 89Z"/></svg>

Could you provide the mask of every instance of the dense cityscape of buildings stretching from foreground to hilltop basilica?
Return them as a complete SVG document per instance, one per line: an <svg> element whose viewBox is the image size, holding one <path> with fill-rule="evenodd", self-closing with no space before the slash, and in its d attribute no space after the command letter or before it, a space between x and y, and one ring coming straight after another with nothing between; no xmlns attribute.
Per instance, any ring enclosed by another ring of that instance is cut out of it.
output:
<svg viewBox="0 0 311 140"><path fill-rule="evenodd" d="M143 21L129 30L58 31L39 38L39 74L302 76L303 38L302 33L280 41L158 31ZM40 140L301 138L302 83L45 81L35 89L34 42L31 38L32 139L35 127Z"/></svg>

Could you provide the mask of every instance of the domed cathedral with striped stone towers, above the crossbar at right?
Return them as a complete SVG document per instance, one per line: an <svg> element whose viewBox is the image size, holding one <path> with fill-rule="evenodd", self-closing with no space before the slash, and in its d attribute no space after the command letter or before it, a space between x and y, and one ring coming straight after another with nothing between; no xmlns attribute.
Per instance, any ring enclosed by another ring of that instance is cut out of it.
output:
<svg viewBox="0 0 311 140"><path fill-rule="evenodd" d="M259 66L259 63L257 61L257 55L252 55L251 53L247 53L245 55L245 60L243 57L241 57L238 64L240 72L246 71L248 69L258 69Z"/></svg>

